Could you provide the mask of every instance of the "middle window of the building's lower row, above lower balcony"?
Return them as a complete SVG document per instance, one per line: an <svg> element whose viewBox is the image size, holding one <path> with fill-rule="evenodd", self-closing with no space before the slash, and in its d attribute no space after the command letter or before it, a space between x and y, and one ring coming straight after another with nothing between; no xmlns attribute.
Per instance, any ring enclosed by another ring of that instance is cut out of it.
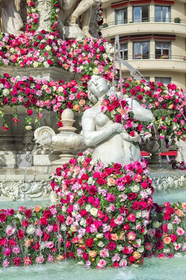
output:
<svg viewBox="0 0 186 280"><path fill-rule="evenodd" d="M134 42L133 59L149 59L150 42Z"/></svg>

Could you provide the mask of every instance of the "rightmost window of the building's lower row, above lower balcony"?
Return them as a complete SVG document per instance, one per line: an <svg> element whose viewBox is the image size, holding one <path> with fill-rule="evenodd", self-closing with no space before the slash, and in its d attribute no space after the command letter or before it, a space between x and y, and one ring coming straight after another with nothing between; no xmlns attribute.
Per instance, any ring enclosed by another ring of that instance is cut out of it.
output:
<svg viewBox="0 0 186 280"><path fill-rule="evenodd" d="M155 42L155 58L170 59L171 58L171 42Z"/></svg>

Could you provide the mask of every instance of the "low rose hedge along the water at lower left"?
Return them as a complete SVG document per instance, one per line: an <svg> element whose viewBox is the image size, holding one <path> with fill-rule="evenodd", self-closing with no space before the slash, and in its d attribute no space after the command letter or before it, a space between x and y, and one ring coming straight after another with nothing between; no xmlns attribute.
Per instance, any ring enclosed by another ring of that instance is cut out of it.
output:
<svg viewBox="0 0 186 280"><path fill-rule="evenodd" d="M60 206L0 210L0 267L66 259Z"/></svg>

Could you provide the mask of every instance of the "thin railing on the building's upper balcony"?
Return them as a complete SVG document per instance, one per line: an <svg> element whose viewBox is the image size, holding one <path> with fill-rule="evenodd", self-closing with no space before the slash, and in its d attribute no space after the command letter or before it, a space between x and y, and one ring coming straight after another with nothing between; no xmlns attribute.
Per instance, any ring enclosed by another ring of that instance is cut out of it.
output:
<svg viewBox="0 0 186 280"><path fill-rule="evenodd" d="M157 23L175 23L175 24L185 24L186 20L181 19L180 23L174 22L174 18L166 18L165 20L162 21L157 21L156 18L139 18L135 19L123 19L123 20L115 20L111 22L104 23L103 28L114 26L114 25L121 25L121 24L129 24L129 23L139 23L139 22L157 22Z"/></svg>

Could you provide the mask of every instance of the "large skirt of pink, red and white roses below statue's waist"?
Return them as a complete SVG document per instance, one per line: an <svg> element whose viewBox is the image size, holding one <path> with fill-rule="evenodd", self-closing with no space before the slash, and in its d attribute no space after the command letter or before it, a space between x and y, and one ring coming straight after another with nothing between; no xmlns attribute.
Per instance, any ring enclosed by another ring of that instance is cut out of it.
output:
<svg viewBox="0 0 186 280"><path fill-rule="evenodd" d="M151 209L147 162L105 166L91 152L56 169L51 187L60 198L68 256L86 267L123 267L143 262Z"/></svg>

